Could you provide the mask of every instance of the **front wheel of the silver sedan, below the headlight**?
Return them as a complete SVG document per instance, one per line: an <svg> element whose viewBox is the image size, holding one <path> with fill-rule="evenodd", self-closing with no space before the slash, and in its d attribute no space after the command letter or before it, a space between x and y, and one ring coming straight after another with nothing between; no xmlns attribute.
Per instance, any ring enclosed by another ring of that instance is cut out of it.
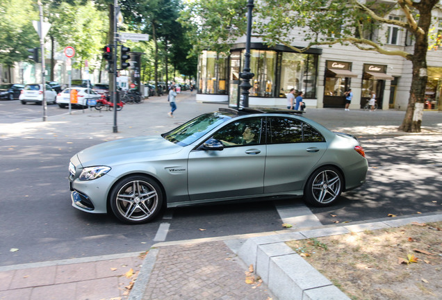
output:
<svg viewBox="0 0 442 300"><path fill-rule="evenodd" d="M122 179L111 190L111 209L115 217L126 224L151 221L163 207L163 192L147 176L133 175Z"/></svg>

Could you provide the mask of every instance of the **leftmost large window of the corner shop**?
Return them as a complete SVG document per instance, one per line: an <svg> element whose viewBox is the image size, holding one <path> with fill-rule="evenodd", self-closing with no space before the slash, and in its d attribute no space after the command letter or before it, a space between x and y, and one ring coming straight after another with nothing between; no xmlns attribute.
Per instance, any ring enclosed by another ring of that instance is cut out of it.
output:
<svg viewBox="0 0 442 300"><path fill-rule="evenodd" d="M227 61L223 53L203 51L199 56L198 92L227 94Z"/></svg>

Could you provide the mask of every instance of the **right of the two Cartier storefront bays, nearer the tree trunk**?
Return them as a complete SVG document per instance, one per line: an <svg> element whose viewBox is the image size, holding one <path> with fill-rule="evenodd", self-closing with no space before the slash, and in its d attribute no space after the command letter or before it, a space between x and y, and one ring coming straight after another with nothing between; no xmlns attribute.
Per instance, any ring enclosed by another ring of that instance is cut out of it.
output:
<svg viewBox="0 0 442 300"><path fill-rule="evenodd" d="M363 64L361 108L370 100L371 92L376 94L377 107L382 108L385 81L394 79L393 76L386 74L386 69L386 65Z"/></svg>

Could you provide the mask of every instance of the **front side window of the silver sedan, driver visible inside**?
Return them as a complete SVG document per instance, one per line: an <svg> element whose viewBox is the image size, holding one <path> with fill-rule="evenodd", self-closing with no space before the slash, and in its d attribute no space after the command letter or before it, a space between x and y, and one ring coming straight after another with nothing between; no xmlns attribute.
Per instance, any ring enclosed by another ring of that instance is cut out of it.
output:
<svg viewBox="0 0 442 300"><path fill-rule="evenodd" d="M224 147L236 147L261 143L262 118L240 119L217 131L212 138Z"/></svg>

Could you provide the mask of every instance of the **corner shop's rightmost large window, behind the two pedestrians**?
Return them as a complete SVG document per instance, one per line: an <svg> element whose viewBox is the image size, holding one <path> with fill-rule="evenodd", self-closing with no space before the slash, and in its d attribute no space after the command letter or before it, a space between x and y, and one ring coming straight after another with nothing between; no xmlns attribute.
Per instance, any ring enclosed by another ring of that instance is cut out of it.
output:
<svg viewBox="0 0 442 300"><path fill-rule="evenodd" d="M318 56L315 54L282 53L279 97L294 88L304 92L304 98L316 98Z"/></svg>

